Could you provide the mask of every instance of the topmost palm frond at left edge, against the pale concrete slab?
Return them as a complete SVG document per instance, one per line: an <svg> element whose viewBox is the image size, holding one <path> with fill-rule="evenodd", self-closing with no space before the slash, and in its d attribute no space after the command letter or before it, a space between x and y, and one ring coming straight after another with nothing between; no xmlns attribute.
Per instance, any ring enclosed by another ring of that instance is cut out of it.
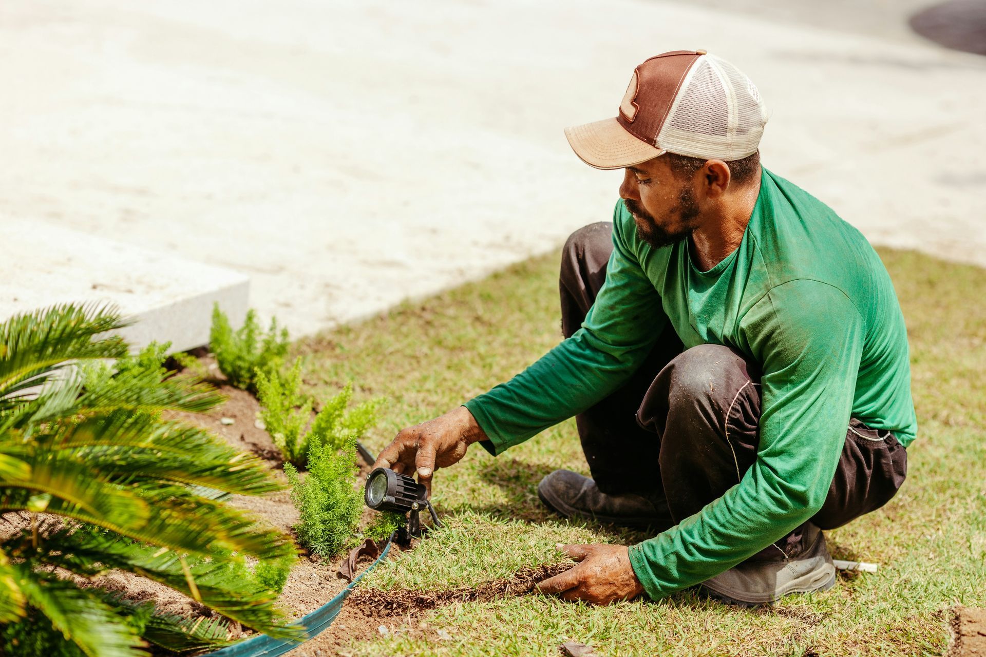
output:
<svg viewBox="0 0 986 657"><path fill-rule="evenodd" d="M0 322L0 400L43 384L69 361L124 356L121 337L97 336L126 325L114 306L95 303L54 305Z"/></svg>

